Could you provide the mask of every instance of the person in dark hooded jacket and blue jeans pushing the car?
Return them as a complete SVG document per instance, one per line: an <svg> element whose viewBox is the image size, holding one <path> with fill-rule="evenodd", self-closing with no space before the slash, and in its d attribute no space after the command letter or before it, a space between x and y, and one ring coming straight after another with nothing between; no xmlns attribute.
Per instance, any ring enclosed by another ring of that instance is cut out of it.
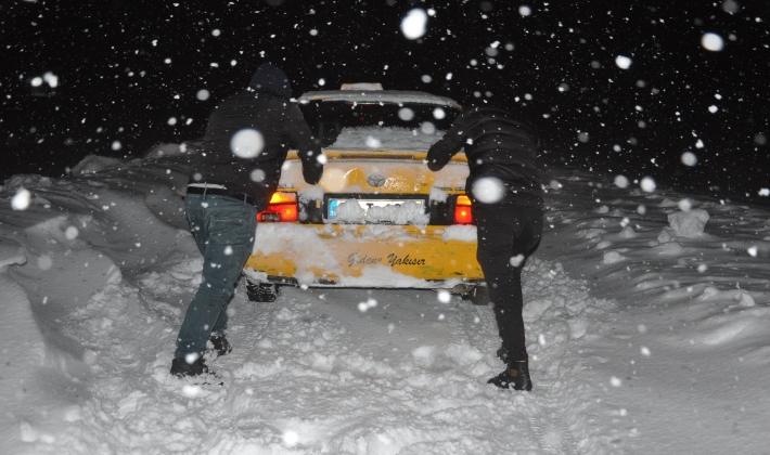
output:
<svg viewBox="0 0 770 455"><path fill-rule="evenodd" d="M218 355L232 349L224 338L227 304L252 252L256 216L278 187L290 144L301 159L305 181L321 179L320 144L291 98L285 73L265 63L248 88L224 100L208 119L184 200L204 256L203 280L179 329L175 376L208 372L203 360L207 340Z"/></svg>

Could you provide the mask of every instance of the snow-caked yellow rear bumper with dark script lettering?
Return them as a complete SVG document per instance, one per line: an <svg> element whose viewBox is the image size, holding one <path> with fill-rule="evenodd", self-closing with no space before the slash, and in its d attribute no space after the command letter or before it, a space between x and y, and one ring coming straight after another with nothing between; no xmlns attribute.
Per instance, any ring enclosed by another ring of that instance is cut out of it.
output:
<svg viewBox="0 0 770 455"><path fill-rule="evenodd" d="M484 281L475 226L457 225L260 223L244 273L333 287L453 289Z"/></svg>

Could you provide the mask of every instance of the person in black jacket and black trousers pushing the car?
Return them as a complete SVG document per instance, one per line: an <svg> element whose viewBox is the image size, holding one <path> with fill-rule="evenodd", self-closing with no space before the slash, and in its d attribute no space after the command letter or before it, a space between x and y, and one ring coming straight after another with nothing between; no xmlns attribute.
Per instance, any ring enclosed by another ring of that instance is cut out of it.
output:
<svg viewBox="0 0 770 455"><path fill-rule="evenodd" d="M470 176L465 191L477 226L477 259L495 304L508 368L489 379L502 389L531 390L522 308L522 268L540 242L542 186L538 135L502 107L463 109L427 153L431 170L441 169L465 147Z"/></svg>

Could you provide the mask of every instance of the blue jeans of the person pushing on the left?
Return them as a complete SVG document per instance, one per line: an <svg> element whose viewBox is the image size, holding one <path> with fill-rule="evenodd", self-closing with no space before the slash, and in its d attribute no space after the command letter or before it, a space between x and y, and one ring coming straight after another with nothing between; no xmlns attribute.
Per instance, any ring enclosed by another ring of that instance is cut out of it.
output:
<svg viewBox="0 0 770 455"><path fill-rule="evenodd" d="M211 334L224 334L226 309L257 229L254 206L229 196L188 194L184 207L203 252L203 281L179 329L176 358L203 355Z"/></svg>

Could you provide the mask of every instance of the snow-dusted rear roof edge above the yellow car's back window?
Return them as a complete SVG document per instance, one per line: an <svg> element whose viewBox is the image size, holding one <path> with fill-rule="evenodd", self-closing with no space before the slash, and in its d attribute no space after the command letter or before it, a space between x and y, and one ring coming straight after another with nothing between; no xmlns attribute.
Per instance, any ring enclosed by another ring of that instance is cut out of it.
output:
<svg viewBox="0 0 770 455"><path fill-rule="evenodd" d="M322 90L304 93L297 101L299 103L345 101L356 103L436 104L462 109L462 106L451 98L438 96L426 92L400 90Z"/></svg>

